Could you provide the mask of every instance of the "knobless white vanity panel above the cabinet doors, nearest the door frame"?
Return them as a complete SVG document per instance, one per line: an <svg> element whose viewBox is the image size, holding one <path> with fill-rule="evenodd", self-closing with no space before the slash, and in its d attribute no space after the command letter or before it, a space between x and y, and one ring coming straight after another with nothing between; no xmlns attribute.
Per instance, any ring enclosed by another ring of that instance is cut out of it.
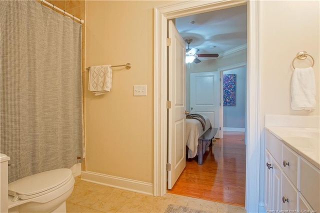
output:
<svg viewBox="0 0 320 213"><path fill-rule="evenodd" d="M281 164L282 142L269 131L265 131L265 148L278 164Z"/></svg>

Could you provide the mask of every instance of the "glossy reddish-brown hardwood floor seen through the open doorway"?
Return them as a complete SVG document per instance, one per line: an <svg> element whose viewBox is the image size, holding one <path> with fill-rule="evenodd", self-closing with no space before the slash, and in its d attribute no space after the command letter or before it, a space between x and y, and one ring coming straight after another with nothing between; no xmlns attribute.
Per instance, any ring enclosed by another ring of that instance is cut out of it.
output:
<svg viewBox="0 0 320 213"><path fill-rule="evenodd" d="M213 150L212 150L213 149ZM182 174L168 193L244 206L245 145L244 132L224 131L203 155L186 160Z"/></svg>

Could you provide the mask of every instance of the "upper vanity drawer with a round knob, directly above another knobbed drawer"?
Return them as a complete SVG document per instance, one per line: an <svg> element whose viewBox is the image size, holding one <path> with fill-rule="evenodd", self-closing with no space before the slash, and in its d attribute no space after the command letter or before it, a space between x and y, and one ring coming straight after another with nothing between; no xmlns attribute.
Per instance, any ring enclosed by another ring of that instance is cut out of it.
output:
<svg viewBox="0 0 320 213"><path fill-rule="evenodd" d="M296 188L298 188L298 158L299 156L292 149L282 145L281 167Z"/></svg>

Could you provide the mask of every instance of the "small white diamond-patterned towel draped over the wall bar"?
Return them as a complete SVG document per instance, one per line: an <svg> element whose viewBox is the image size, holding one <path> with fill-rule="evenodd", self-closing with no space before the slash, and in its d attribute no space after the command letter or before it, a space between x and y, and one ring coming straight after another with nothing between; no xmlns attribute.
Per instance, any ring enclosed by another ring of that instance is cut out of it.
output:
<svg viewBox="0 0 320 213"><path fill-rule="evenodd" d="M91 66L89 69L89 91L94 95L110 91L112 84L111 65Z"/></svg>

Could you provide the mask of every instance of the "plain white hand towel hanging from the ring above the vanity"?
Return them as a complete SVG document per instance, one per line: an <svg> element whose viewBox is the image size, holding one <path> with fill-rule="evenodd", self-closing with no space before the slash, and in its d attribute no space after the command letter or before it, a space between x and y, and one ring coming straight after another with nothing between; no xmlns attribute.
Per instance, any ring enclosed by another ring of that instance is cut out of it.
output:
<svg viewBox="0 0 320 213"><path fill-rule="evenodd" d="M295 68L291 79L291 108L315 109L315 79L312 67Z"/></svg>

